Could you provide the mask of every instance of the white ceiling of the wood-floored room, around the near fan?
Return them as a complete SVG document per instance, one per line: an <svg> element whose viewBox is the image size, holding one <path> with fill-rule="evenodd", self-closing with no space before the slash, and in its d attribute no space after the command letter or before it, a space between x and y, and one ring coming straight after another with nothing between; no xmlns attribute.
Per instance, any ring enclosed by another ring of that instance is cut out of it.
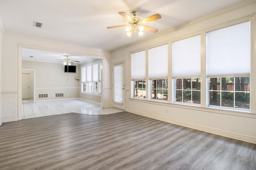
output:
<svg viewBox="0 0 256 170"><path fill-rule="evenodd" d="M7 32L112 51L242 1L244 0L0 0L0 17L2 27ZM126 12L132 17L131 12L134 10L138 11L137 17L141 19L160 14L161 19L146 23L157 28L158 32L144 31L141 37L136 33L127 37L125 27L106 28L127 24L128 21L118 12ZM42 28L33 27L34 21L43 23ZM38 55L36 51L28 50L24 57L35 54ZM73 60L78 58L74 56Z"/></svg>

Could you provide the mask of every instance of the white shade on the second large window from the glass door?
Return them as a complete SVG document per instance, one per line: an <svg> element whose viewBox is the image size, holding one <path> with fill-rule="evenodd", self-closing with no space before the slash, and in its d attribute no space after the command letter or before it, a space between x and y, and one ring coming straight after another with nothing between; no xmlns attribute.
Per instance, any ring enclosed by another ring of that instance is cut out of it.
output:
<svg viewBox="0 0 256 170"><path fill-rule="evenodd" d="M168 44L149 49L148 57L149 79L168 78Z"/></svg>

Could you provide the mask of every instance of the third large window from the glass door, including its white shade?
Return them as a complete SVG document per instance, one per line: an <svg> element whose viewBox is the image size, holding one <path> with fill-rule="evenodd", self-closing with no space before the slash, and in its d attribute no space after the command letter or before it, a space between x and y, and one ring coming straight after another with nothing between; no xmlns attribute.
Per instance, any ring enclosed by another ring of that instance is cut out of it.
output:
<svg viewBox="0 0 256 170"><path fill-rule="evenodd" d="M172 43L172 78L175 102L200 104L201 36Z"/></svg>

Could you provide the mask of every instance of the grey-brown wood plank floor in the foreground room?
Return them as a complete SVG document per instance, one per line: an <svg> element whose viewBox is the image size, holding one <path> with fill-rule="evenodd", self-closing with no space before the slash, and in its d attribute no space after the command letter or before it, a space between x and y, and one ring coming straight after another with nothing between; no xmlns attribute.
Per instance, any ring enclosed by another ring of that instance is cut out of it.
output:
<svg viewBox="0 0 256 170"><path fill-rule="evenodd" d="M256 145L140 115L66 113L3 123L1 170L255 170Z"/></svg>

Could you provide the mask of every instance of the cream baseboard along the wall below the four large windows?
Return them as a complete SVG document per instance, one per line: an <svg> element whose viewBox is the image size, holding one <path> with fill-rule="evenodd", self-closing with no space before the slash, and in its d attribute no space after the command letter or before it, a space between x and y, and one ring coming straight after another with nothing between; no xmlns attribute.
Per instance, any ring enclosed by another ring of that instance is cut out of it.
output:
<svg viewBox="0 0 256 170"><path fill-rule="evenodd" d="M245 142L250 142L250 143L255 143L256 144L256 137L252 137L252 136L248 136L248 135L242 135L239 133L233 133L233 132L229 132L229 131L223 131L220 129L214 129L214 128L210 128L210 127L205 127L205 126L201 126L201 125L196 125L196 124L192 124L192 123L187 123L187 122L183 122L183 121L177 121L174 119L169 119L166 117L160 117L157 115L152 115L152 114L148 114L148 113L144 113L141 111L136 111L136 110L132 110L132 109L126 109L126 111L130 112L130 113L134 113L137 115L142 115L145 117L150 117L152 119L157 119L160 121L165 121L168 123L173 123L176 125L180 125L180 126L184 126L184 127L189 127L192 129L196 129L196 130L200 130L200 131L204 131L204 132L208 132L208 133L213 133L216 135L220 135L220 136L224 136L224 137L229 137L232 139L238 139L240 141L245 141Z"/></svg>

